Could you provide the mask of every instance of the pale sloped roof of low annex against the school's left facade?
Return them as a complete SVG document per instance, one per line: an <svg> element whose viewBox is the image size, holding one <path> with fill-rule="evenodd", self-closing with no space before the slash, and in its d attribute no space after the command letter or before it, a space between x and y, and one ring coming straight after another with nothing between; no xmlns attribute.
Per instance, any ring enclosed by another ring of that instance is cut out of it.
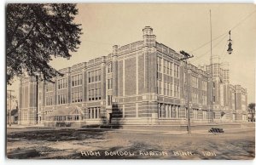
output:
<svg viewBox="0 0 256 165"><path fill-rule="evenodd" d="M68 116L72 114L76 114L76 110L79 111L79 114L83 114L83 111L77 105L73 106L64 106L58 107L57 109L53 110L51 113L48 113L47 117L55 117L55 116Z"/></svg>

